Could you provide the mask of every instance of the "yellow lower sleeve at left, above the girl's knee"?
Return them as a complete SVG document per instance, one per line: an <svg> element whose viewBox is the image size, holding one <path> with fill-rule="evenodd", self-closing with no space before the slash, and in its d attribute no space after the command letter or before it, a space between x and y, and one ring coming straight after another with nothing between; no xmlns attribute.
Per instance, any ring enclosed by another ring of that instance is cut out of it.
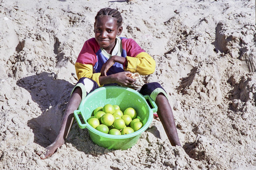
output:
<svg viewBox="0 0 256 170"><path fill-rule="evenodd" d="M82 77L87 77L89 79L96 81L96 83L100 87L103 86L103 85L100 85L100 82L99 82L100 72L93 73L93 66L91 64L76 63L75 68L76 68L76 76L78 80Z"/></svg>

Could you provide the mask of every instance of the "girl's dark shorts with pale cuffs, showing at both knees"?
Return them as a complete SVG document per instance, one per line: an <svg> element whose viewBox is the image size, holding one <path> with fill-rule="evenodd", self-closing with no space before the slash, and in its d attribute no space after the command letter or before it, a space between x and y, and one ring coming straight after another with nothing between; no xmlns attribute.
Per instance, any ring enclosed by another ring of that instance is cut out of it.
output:
<svg viewBox="0 0 256 170"><path fill-rule="evenodd" d="M82 89L82 99L84 99L89 93L91 93L95 89L100 88L95 81L86 77L82 77L81 79L79 79L74 89L76 87L80 87ZM74 89L72 90L72 93ZM156 82L144 84L141 89L138 89L137 91L139 91L139 93L143 96L149 95L154 101L156 101L156 96L160 93L163 93L168 99L165 89L163 89L163 87Z"/></svg>

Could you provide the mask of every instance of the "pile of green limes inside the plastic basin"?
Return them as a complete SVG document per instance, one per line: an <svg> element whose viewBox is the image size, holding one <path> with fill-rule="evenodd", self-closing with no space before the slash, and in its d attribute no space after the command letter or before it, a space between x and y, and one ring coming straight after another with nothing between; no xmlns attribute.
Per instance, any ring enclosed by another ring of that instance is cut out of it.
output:
<svg viewBox="0 0 256 170"><path fill-rule="evenodd" d="M96 130L113 135L130 134L139 130L143 124L137 118L134 108L126 108L124 113L118 105L106 104L93 111L87 122Z"/></svg>

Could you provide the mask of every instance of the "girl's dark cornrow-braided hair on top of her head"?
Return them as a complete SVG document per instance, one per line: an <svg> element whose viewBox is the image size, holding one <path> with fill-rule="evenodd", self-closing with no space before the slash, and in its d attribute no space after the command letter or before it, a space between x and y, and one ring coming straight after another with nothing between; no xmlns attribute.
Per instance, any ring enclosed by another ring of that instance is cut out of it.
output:
<svg viewBox="0 0 256 170"><path fill-rule="evenodd" d="M95 16L95 23L98 17L103 17L105 15L108 15L109 17L115 18L117 21L117 26L120 27L122 25L123 18L117 9L112 8L102 8L100 11L98 11L97 15Z"/></svg>

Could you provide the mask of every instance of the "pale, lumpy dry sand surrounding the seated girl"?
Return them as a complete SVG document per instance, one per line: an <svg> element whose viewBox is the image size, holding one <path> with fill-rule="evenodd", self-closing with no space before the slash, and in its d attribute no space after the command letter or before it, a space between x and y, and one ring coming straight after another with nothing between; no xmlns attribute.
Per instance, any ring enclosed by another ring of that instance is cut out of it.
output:
<svg viewBox="0 0 256 170"><path fill-rule="evenodd" d="M169 95L181 147L153 120L131 149L98 147L74 124L41 160L77 81L76 57L96 12L118 8L121 36L157 62L138 85ZM0 0L0 167L3 169L256 169L255 0Z"/></svg>

